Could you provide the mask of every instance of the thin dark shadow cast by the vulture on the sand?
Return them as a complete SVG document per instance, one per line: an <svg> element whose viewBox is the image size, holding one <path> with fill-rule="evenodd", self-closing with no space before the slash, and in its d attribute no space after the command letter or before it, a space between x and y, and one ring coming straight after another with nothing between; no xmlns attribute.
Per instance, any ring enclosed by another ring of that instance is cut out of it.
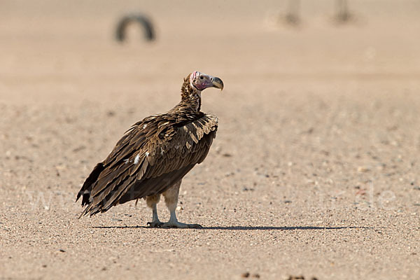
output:
<svg viewBox="0 0 420 280"><path fill-rule="evenodd" d="M92 228L118 228L118 229L134 229L134 228L150 228L142 225L110 225L110 226L97 226ZM371 229L367 227L314 227L314 226L295 226L295 227L269 227L269 226L242 226L232 225L228 227L202 227L195 228L194 230L351 230L351 229ZM163 230L163 229L162 229ZM167 230L167 229L165 229ZM192 229L187 229L192 230Z"/></svg>

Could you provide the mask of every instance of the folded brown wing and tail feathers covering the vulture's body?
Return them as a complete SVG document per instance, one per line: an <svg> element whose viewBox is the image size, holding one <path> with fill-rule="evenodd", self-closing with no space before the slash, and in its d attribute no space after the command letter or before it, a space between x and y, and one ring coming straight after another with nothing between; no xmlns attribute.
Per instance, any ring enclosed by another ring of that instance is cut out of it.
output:
<svg viewBox="0 0 420 280"><path fill-rule="evenodd" d="M163 193L206 158L216 137L217 117L202 114L182 123L170 117L152 116L127 130L80 190L88 198L83 195L88 205L82 215Z"/></svg>

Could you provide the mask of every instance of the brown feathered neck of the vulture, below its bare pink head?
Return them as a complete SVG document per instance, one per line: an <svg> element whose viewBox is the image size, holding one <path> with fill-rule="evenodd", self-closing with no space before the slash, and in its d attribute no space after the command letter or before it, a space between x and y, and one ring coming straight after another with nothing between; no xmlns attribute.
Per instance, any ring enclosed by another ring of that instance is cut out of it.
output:
<svg viewBox="0 0 420 280"><path fill-rule="evenodd" d="M181 102L175 108L189 114L200 112L201 91L190 84L189 78L184 80L181 87Z"/></svg>

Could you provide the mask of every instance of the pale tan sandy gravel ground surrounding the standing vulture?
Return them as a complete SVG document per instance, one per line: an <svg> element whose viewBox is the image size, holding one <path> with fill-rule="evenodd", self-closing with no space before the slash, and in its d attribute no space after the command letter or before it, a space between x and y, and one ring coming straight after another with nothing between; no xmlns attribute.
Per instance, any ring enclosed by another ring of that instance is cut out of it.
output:
<svg viewBox="0 0 420 280"><path fill-rule="evenodd" d="M300 27L277 1L137 2L0 2L0 279L420 278L418 1L350 1L349 25L302 1ZM126 10L158 40L115 43ZM194 70L225 83L181 187L204 229L146 228L144 202L78 220L92 167Z"/></svg>

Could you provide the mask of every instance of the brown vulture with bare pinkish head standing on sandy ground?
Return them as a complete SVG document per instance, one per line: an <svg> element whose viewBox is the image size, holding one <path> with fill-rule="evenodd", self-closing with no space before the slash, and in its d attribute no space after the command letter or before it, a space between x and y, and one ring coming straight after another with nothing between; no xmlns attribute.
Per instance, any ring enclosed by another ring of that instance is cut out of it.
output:
<svg viewBox="0 0 420 280"><path fill-rule="evenodd" d="M199 71L190 73L183 80L179 104L167 113L144 118L125 132L78 192L76 202L82 197L85 207L80 217L144 198L153 213L148 223L151 228L201 228L180 223L175 210L183 176L206 158L216 137L218 118L200 111L201 94L207 87L223 90L223 81ZM167 223L158 218L160 195L170 212Z"/></svg>

